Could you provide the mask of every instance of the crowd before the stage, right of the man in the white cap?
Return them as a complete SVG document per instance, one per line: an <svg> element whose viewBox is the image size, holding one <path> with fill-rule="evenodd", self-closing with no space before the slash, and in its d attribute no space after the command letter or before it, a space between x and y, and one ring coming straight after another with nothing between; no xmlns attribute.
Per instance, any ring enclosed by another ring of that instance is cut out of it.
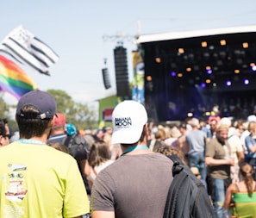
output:
<svg viewBox="0 0 256 218"><path fill-rule="evenodd" d="M174 139L173 132L177 131ZM216 217L256 217L255 115L249 115L247 120L191 117L179 125L158 125L153 132L149 146L152 141L157 141L157 147L169 146L166 141L172 139L172 147L184 153L187 165L205 184ZM236 185L238 189L234 189Z"/></svg>

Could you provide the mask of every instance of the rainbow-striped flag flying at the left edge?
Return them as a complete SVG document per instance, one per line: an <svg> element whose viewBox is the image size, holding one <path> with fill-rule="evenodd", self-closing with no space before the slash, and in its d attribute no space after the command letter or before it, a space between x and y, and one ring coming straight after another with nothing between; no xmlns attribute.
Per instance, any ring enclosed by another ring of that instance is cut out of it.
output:
<svg viewBox="0 0 256 218"><path fill-rule="evenodd" d="M0 55L0 90L20 99L28 91L36 89L37 86L21 67Z"/></svg>

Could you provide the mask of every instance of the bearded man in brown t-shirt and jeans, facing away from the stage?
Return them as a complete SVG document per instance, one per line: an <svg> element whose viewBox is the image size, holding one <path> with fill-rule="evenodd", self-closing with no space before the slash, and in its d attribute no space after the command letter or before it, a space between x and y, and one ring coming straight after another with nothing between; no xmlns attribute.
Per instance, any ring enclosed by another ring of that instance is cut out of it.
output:
<svg viewBox="0 0 256 218"><path fill-rule="evenodd" d="M221 125L217 128L216 137L206 144L205 151L205 163L208 168L207 187L217 218L224 218L228 215L227 209L223 209L222 205L228 185L232 182L230 176L234 159L230 157L230 154L228 126Z"/></svg>

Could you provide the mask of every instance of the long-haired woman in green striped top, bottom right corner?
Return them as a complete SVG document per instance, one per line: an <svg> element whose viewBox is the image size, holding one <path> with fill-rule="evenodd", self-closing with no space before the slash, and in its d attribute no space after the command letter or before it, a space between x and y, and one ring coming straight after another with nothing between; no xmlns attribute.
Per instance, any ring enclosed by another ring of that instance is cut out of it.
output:
<svg viewBox="0 0 256 218"><path fill-rule="evenodd" d="M243 163L240 166L242 180L230 184L223 205L232 217L256 217L256 182L253 179L253 166Z"/></svg>

